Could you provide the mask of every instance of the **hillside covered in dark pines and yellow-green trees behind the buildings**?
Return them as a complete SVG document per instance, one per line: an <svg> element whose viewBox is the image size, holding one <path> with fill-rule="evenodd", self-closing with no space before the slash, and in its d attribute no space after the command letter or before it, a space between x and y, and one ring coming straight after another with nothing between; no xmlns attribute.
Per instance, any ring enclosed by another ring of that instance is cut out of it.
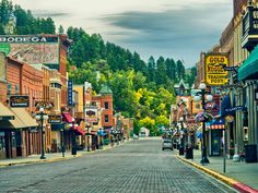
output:
<svg viewBox="0 0 258 193"><path fill-rule="evenodd" d="M51 17L35 17L31 11L8 0L0 2L0 15L2 35L10 19L15 20L14 34L17 35L56 33ZM62 26L58 27L58 33L63 33ZM168 126L171 105L175 104L174 84L184 79L191 85L196 68L186 74L181 60L162 56L157 59L150 56L144 62L136 51L105 43L99 34L89 35L82 28L70 26L67 34L73 41L67 69L74 84L91 82L95 93L101 85L108 85L114 95L115 111L134 118L136 132L146 126L152 134L157 134L157 126Z"/></svg>

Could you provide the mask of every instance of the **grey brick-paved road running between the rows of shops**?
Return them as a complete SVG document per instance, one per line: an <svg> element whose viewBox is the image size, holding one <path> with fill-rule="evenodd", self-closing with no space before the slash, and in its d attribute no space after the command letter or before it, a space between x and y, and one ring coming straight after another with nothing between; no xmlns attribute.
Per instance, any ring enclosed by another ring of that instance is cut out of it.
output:
<svg viewBox="0 0 258 193"><path fill-rule="evenodd" d="M187 166L161 140L137 140L59 162L0 169L0 192L168 193L234 192Z"/></svg>

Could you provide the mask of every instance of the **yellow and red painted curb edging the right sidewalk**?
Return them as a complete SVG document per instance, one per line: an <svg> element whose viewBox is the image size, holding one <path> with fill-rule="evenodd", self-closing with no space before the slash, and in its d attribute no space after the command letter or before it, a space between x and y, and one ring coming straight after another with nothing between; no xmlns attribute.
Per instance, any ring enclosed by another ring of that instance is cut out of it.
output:
<svg viewBox="0 0 258 193"><path fill-rule="evenodd" d="M187 162L187 164L198 168L199 170L204 171L206 173L214 177L215 179L218 179L218 180L228 184L230 186L234 188L235 190L237 190L237 191L239 191L242 193L258 193L258 190L255 190L255 189L253 189L253 188L250 188L250 186L248 186L248 185L246 185L246 184L244 184L242 182L238 182L238 181L236 181L236 180L234 180L232 178L225 177L225 176L223 176L221 173L218 173L216 171L208 169L208 168L206 168L206 167L203 167L201 165L195 164L195 162L192 162L192 161L190 161L190 160L188 160L188 159L186 159L184 157L180 157L178 155L176 155L176 157L178 159L180 159L180 160L183 160L183 161L185 161L185 162Z"/></svg>

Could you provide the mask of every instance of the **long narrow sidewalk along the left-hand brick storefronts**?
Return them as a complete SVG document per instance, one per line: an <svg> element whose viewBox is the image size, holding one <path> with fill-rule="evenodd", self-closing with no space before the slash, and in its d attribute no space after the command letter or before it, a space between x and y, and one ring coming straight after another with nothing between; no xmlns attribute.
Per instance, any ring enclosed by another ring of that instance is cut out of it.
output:
<svg viewBox="0 0 258 193"><path fill-rule="evenodd" d="M13 166L13 165L28 165L28 164L36 164L36 162L54 162L54 161L73 159L73 158L82 157L82 155L85 155L85 154L93 154L93 153L106 150L109 148L114 148L125 143L127 143L127 141L124 141L124 143L119 145L116 145L116 144L114 146L105 145L103 146L103 149L96 149L96 150L91 150L91 152L87 152L86 149L78 150L75 156L71 155L71 150L67 150L64 153L64 157L62 157L62 153L52 153L52 154L45 154L46 159L40 159L40 155L31 155L28 157L17 157L17 158L11 158L11 159L0 159L0 167L7 167L7 166Z"/></svg>

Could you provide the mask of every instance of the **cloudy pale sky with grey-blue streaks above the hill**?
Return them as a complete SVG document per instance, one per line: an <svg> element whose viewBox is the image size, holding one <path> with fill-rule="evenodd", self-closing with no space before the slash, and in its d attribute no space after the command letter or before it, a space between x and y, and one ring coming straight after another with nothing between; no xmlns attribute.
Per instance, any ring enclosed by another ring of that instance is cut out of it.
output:
<svg viewBox="0 0 258 193"><path fill-rule="evenodd" d="M194 65L232 19L232 0L12 0L36 16L101 34L143 60L183 59Z"/></svg>

